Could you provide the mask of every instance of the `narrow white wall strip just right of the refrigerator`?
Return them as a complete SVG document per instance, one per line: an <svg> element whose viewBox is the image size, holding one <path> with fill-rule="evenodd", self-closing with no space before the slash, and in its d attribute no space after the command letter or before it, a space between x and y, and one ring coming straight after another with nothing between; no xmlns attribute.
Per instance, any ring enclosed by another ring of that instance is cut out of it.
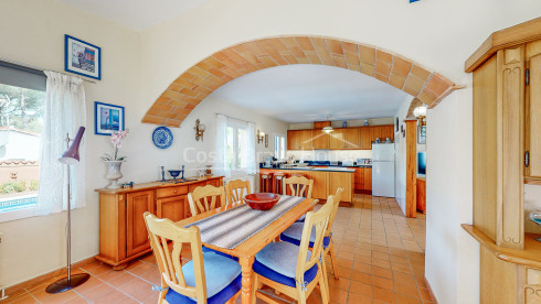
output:
<svg viewBox="0 0 541 304"><path fill-rule="evenodd" d="M407 110L412 104L413 97L409 96L402 102L396 117L399 118L399 132L394 133L394 151L396 153L396 161L394 164L394 195L396 203L399 203L402 213L405 215L406 203L406 138L402 137L400 126L405 130L404 119L407 116Z"/></svg>

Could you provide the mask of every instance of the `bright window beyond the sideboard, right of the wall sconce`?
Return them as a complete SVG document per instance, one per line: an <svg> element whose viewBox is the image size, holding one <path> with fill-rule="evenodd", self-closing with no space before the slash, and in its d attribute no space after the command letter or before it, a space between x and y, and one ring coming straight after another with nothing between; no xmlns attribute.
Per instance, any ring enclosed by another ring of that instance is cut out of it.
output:
<svg viewBox="0 0 541 304"><path fill-rule="evenodd" d="M225 129L227 166L232 173L242 174L248 170L248 126L232 120Z"/></svg>

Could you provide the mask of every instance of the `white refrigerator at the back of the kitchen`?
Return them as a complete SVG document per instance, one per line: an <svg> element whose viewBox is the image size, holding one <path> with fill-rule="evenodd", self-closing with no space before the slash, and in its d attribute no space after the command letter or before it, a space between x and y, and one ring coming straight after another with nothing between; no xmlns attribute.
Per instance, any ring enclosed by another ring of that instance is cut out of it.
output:
<svg viewBox="0 0 541 304"><path fill-rule="evenodd" d="M372 144L372 196L394 197L394 143Z"/></svg>

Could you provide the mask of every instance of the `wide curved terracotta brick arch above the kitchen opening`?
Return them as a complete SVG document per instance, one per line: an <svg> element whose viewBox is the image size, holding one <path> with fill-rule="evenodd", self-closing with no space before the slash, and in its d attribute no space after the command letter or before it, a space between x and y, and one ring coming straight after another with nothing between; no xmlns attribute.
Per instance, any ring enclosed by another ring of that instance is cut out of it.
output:
<svg viewBox="0 0 541 304"><path fill-rule="evenodd" d="M375 46L326 36L276 36L226 47L193 65L161 94L142 122L180 127L192 109L222 85L255 70L290 64L357 70L414 96L431 108L457 88L438 73Z"/></svg>

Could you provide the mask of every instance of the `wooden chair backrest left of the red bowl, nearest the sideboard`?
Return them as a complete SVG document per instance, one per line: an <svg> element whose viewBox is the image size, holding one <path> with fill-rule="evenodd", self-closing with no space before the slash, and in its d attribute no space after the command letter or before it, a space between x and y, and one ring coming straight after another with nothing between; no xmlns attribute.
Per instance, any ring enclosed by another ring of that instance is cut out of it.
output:
<svg viewBox="0 0 541 304"><path fill-rule="evenodd" d="M218 207L225 207L225 192L222 186L206 185L197 187L192 193L188 194L188 203L190 204L192 216ZM220 205L216 206L216 204Z"/></svg>

